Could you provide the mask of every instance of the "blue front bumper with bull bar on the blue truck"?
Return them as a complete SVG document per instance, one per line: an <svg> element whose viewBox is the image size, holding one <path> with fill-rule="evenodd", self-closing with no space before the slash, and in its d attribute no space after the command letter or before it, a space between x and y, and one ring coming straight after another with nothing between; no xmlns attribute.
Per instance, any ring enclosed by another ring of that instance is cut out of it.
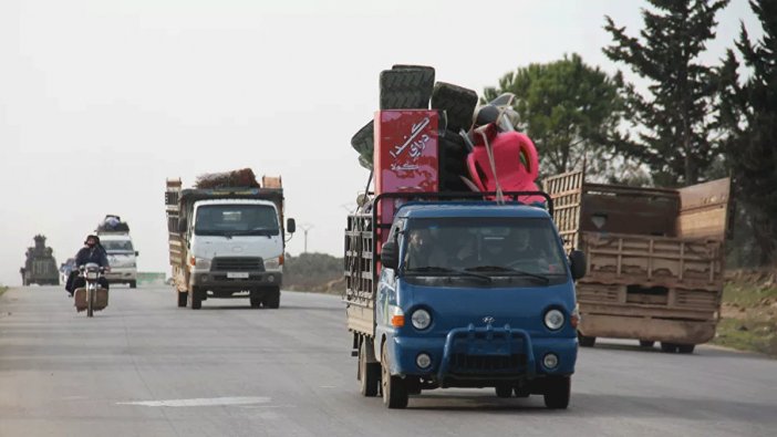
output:
<svg viewBox="0 0 777 437"><path fill-rule="evenodd" d="M419 354L432 364L422 368ZM558 357L548 368L543 358ZM526 381L547 375L571 375L578 354L577 339L531 337L525 330L505 327L458 327L445 337L395 336L390 340L392 374L431 378L443 387Z"/></svg>

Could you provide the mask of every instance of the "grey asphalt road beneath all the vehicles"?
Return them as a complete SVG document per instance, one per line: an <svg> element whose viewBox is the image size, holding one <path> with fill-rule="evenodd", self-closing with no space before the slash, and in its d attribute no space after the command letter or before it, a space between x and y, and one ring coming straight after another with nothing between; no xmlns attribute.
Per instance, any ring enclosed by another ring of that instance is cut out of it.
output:
<svg viewBox="0 0 777 437"><path fill-rule="evenodd" d="M178 309L111 292L93 319L61 289L0 296L0 436L775 436L777 361L628 342L582 350L568 410L438 389L405 410L361 397L338 296Z"/></svg>

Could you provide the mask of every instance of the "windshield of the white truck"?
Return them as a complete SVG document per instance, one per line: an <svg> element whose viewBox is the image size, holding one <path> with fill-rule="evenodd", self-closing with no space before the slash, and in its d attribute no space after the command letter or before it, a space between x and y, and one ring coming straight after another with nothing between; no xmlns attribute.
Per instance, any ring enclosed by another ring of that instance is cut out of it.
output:
<svg viewBox="0 0 777 437"><path fill-rule="evenodd" d="M197 208L198 236L277 236L276 209L265 205L205 205Z"/></svg>

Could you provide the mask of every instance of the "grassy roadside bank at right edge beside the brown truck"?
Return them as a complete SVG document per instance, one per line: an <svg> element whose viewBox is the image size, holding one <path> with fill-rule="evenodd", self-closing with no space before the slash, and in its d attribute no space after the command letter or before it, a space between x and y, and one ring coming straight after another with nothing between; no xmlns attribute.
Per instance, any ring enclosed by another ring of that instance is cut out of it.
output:
<svg viewBox="0 0 777 437"><path fill-rule="evenodd" d="M777 357L776 271L736 271L729 275L713 343Z"/></svg>

